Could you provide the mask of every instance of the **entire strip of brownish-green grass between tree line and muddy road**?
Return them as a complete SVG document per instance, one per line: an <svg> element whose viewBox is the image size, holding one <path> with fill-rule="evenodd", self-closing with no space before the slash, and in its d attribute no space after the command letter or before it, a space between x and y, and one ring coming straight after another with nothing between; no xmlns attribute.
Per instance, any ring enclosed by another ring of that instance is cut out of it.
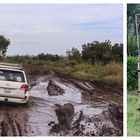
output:
<svg viewBox="0 0 140 140"><path fill-rule="evenodd" d="M5 61L21 64L35 64L78 79L89 80L91 82L101 81L110 85L123 86L122 63L110 62L103 65L98 62L91 65L82 61L77 62L76 60L69 60L67 58L55 61L35 59L6 59Z"/></svg>

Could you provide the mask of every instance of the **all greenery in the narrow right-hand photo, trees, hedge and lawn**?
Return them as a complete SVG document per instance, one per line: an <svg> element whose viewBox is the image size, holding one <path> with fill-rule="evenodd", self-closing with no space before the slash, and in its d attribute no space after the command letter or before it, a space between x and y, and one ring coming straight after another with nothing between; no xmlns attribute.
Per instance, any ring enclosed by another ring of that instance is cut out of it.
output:
<svg viewBox="0 0 140 140"><path fill-rule="evenodd" d="M129 136L140 136L140 112L138 112L138 73L135 14L140 13L140 4L127 5L127 130ZM138 17L140 29L140 17Z"/></svg>

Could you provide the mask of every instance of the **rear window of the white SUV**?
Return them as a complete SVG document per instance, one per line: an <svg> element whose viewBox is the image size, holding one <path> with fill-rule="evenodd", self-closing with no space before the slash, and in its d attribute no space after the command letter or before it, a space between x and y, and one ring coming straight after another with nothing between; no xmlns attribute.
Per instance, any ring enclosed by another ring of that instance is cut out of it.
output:
<svg viewBox="0 0 140 140"><path fill-rule="evenodd" d="M0 81L25 82L25 78L23 72L0 69Z"/></svg>

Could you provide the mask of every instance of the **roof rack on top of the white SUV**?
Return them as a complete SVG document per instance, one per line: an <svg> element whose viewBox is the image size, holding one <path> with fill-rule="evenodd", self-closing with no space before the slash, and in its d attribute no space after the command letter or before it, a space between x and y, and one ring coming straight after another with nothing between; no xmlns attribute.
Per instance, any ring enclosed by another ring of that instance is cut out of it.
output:
<svg viewBox="0 0 140 140"><path fill-rule="evenodd" d="M22 65L20 64L3 63L3 62L0 62L0 68L19 69L19 70L23 69Z"/></svg>

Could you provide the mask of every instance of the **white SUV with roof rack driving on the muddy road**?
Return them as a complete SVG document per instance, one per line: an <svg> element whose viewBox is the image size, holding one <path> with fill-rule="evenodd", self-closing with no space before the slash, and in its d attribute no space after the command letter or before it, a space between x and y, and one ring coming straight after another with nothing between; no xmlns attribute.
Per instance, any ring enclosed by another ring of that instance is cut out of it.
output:
<svg viewBox="0 0 140 140"><path fill-rule="evenodd" d="M27 103L29 86L22 66L0 63L0 101Z"/></svg>

